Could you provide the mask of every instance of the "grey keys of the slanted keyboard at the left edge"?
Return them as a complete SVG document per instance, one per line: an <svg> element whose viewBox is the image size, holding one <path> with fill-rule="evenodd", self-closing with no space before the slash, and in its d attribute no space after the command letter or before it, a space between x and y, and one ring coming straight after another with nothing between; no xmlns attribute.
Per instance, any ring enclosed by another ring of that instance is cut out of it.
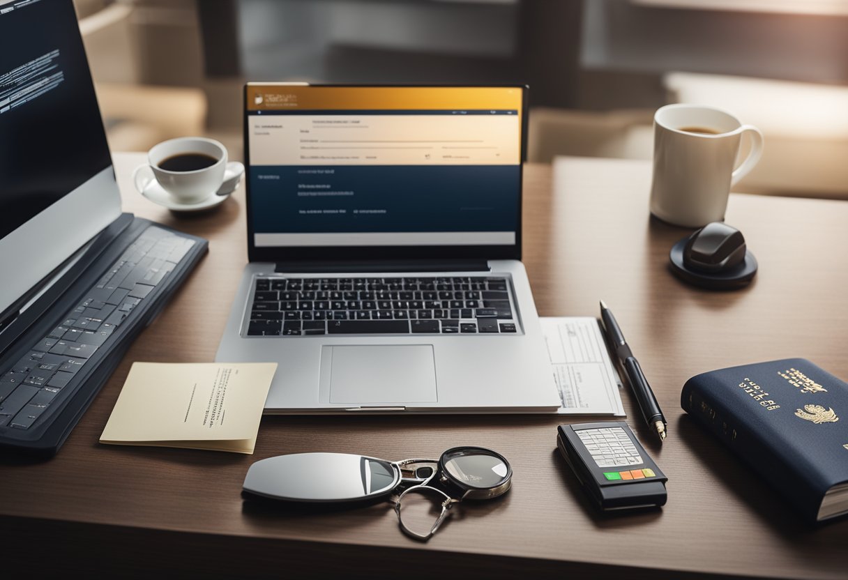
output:
<svg viewBox="0 0 848 580"><path fill-rule="evenodd" d="M198 242L204 241L148 226L74 307L55 319L53 330L30 339L23 356L0 368L0 444L14 444L16 434L36 427L47 431L71 399L93 396L75 377L95 371L103 360L95 354L127 334L120 331L149 310L158 287L175 286L163 282L173 282L171 273L188 254L197 258L192 249ZM104 382L108 375L101 378Z"/></svg>

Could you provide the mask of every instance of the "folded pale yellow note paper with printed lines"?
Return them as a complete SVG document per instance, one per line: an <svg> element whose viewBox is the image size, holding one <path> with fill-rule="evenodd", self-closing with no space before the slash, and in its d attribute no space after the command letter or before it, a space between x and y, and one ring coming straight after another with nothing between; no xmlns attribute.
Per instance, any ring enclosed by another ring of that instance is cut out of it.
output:
<svg viewBox="0 0 848 580"><path fill-rule="evenodd" d="M100 443L252 454L276 363L132 365Z"/></svg>

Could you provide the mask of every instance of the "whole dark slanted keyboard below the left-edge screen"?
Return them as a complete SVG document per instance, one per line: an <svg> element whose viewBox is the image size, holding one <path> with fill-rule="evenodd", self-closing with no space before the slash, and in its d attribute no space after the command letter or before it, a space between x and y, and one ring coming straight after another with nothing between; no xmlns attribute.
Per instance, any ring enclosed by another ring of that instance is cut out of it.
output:
<svg viewBox="0 0 848 580"><path fill-rule="evenodd" d="M55 452L120 360L123 351L116 348L129 346L158 312L153 303L164 304L165 287L175 288L204 253L200 238L137 221L146 229L105 274L75 293L80 298L59 310L52 330L16 345L25 354L0 367L0 445ZM181 276L175 280L177 269ZM109 360L107 354L113 356L104 373L98 366ZM65 407L74 408L71 416L63 414ZM51 429L53 422L57 429Z"/></svg>

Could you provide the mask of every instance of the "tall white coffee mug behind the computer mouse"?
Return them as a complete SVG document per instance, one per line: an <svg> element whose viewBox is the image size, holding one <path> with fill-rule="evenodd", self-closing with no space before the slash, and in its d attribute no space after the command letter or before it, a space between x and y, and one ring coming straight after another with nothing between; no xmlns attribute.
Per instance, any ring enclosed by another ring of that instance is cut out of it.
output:
<svg viewBox="0 0 848 580"><path fill-rule="evenodd" d="M751 137L750 153L736 166L744 133ZM732 114L692 104L657 109L650 213L677 226L724 220L730 188L761 156L760 130Z"/></svg>

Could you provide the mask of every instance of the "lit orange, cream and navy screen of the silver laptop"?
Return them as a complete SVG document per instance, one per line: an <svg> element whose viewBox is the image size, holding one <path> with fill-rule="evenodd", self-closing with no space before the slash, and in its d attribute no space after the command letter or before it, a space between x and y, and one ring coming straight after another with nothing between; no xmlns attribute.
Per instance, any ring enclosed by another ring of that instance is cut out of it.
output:
<svg viewBox="0 0 848 580"><path fill-rule="evenodd" d="M254 245L507 246L518 87L247 87Z"/></svg>

